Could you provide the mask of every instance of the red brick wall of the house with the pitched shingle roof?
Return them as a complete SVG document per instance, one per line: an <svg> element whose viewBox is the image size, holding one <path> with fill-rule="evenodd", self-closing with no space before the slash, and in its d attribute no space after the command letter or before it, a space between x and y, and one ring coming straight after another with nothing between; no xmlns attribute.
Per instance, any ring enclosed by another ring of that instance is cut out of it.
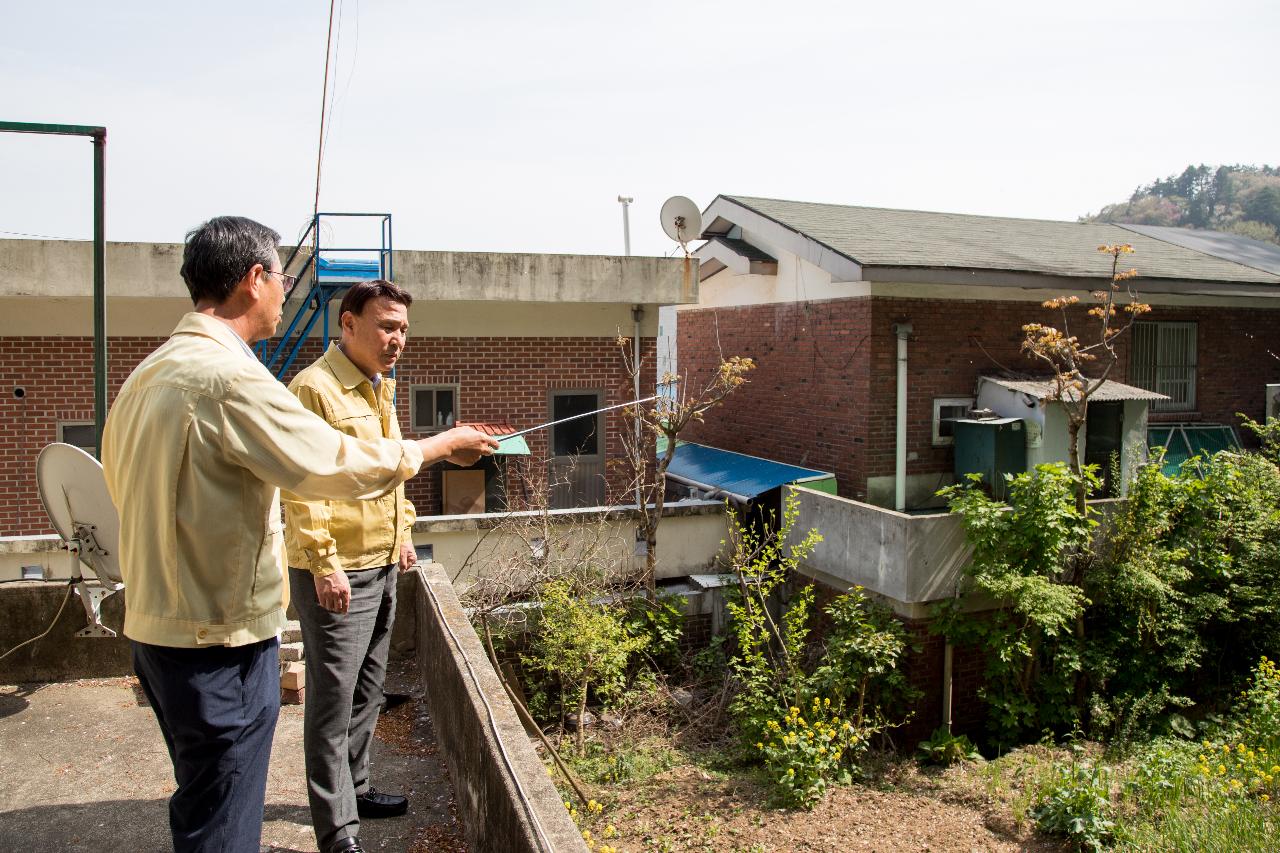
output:
<svg viewBox="0 0 1280 853"><path fill-rule="evenodd" d="M1238 423L1236 411L1262 416L1262 387L1280 382L1280 311L1156 307L1151 320L1198 324L1198 406L1192 418ZM909 474L945 475L950 447L933 447L936 397L973 396L978 377L1043 370L1021 355L1025 323L1060 324L1036 302L847 298L680 313L680 370L705 380L718 353L751 356L750 384L691 428L690 441L836 474L844 497L864 498L867 478L893 474L897 338L909 321ZM1071 330L1084 336L1084 306ZM718 342L718 347L717 347ZM1128 336L1111 378L1125 382ZM1185 420L1188 415L1178 415ZM1244 437L1248 438L1248 437Z"/></svg>

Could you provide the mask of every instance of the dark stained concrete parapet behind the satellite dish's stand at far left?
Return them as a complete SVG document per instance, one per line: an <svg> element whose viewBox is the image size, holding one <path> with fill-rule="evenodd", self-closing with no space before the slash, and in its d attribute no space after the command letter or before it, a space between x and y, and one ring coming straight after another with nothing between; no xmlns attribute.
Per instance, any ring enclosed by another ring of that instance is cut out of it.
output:
<svg viewBox="0 0 1280 853"><path fill-rule="evenodd" d="M0 585L0 654L49 628L67 594L67 583L26 581ZM84 606L72 592L49 637L22 647L0 661L0 684L24 681L70 681L101 679L133 672L129 640L76 637L84 628ZM102 602L102 624L120 633L124 628L124 593Z"/></svg>

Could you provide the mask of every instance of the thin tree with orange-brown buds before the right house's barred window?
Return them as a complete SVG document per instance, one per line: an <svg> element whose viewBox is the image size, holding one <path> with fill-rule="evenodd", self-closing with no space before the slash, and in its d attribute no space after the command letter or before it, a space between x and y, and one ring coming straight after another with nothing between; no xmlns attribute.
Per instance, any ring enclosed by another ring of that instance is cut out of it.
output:
<svg viewBox="0 0 1280 853"><path fill-rule="evenodd" d="M1051 400L1061 403L1066 411L1068 465L1076 478L1075 507L1080 515L1085 512L1084 503L1088 498L1088 484L1080 476L1080 429L1088 420L1089 397L1097 393L1116 365L1116 339L1139 316L1151 311L1149 305L1138 301L1138 293L1132 283L1138 277L1138 270L1120 269L1120 256L1133 254L1133 246L1129 243L1098 246L1098 251L1111 255L1111 284L1092 295L1094 305L1089 309L1088 315L1093 319L1097 338L1092 339L1091 336L1092 342L1083 343L1070 332L1066 310L1079 304L1079 296L1059 296L1043 304L1044 307L1061 313L1061 330L1039 323L1028 323L1023 327L1025 336L1023 352L1044 362L1053 371L1055 387ZM1120 296L1121 289L1129 301L1117 305L1116 297ZM1120 324L1116 324L1117 309L1128 315L1128 319ZM1085 375L1085 366L1094 362L1094 375Z"/></svg>

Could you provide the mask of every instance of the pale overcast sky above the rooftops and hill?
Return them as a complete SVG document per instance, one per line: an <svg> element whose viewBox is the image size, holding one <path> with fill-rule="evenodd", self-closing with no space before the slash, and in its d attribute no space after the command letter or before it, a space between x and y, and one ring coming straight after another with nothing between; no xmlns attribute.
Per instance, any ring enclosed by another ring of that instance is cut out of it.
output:
<svg viewBox="0 0 1280 853"><path fill-rule="evenodd" d="M389 211L401 248L621 254L620 193L635 254L673 248L672 195L1074 219L1280 161L1274 0L338 6L321 209ZM108 127L108 240L288 241L328 9L8 1L0 119ZM0 133L0 237L90 237L91 190L88 141Z"/></svg>

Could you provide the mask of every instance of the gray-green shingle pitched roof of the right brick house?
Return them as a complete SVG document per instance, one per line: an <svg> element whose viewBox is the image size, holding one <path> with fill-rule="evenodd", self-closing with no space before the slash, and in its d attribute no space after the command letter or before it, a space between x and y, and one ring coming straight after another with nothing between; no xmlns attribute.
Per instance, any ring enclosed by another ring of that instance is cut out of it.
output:
<svg viewBox="0 0 1280 853"><path fill-rule="evenodd" d="M987 269L1105 277L1106 243L1130 243L1142 278L1280 284L1280 275L1106 223L1011 219L966 214L724 196L800 232L863 266Z"/></svg>

